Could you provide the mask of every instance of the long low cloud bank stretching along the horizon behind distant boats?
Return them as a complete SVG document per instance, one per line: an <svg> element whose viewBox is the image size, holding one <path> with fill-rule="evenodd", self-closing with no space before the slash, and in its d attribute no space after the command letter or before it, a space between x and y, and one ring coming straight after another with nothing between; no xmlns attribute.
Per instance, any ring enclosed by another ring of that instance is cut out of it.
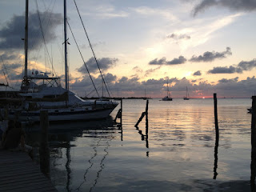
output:
<svg viewBox="0 0 256 192"><path fill-rule="evenodd" d="M101 94L102 78L92 77L98 88L98 93ZM212 97L214 93L218 96L226 97L250 97L252 87L256 87L255 77L248 77L244 80L236 78L222 78L217 83L207 82L204 79L190 80L187 78L168 78L171 84L170 90L174 98L183 98L186 95L186 86L191 97ZM144 97L145 90L147 97L162 98L166 95L166 78L148 79L140 82L139 78L128 78L123 76L117 78L114 74L106 74L107 86L113 96L117 97ZM71 90L78 95L86 95L88 97L97 96L94 87L90 82L88 75L81 79L75 79L74 83L70 83Z"/></svg>

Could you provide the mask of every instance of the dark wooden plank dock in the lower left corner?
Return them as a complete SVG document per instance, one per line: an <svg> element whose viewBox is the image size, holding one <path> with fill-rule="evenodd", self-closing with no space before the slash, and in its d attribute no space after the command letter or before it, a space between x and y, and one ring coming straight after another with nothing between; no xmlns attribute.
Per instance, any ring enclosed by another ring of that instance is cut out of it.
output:
<svg viewBox="0 0 256 192"><path fill-rule="evenodd" d="M0 150L0 191L58 191L28 154Z"/></svg>

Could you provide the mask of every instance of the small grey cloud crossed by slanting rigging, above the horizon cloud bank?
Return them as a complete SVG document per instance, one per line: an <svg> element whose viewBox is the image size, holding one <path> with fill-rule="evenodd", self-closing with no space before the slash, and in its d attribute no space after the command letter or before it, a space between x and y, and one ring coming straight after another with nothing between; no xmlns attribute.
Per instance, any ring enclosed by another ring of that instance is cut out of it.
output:
<svg viewBox="0 0 256 192"><path fill-rule="evenodd" d="M118 62L118 58L100 58L98 59L98 65L101 70L108 70L112 66L115 65L115 63ZM86 62L86 66L90 73L98 73L98 66L95 62L95 59L92 57ZM82 74L87 74L86 66L82 65L80 68L78 68L78 72Z"/></svg>

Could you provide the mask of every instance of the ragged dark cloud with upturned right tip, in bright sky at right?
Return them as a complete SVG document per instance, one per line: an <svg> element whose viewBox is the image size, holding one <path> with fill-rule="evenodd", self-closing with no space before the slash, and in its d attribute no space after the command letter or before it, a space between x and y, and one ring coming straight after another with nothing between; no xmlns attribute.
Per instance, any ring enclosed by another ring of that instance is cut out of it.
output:
<svg viewBox="0 0 256 192"><path fill-rule="evenodd" d="M192 58L190 58L190 62L212 62L215 59L219 58L226 58L227 55L231 55L230 47L226 47L226 51L223 52L215 52L215 51L206 51L203 55L199 55L198 57L193 55Z"/></svg>

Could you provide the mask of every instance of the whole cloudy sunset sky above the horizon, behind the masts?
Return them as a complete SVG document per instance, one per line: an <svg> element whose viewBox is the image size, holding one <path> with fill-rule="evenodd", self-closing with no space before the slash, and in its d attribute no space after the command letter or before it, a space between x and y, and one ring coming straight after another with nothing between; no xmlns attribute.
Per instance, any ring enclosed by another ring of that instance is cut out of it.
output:
<svg viewBox="0 0 256 192"><path fill-rule="evenodd" d="M6 83L5 72L16 88L24 68L25 2L0 2L0 82ZM75 2L111 96L144 97L146 92L162 98L167 79L173 98L184 97L186 86L191 97L254 94L256 0ZM29 73L54 73L64 82L63 1L30 0L29 9ZM101 92L102 79L74 0L67 0L67 17ZM96 96L69 28L67 36L70 90Z"/></svg>

